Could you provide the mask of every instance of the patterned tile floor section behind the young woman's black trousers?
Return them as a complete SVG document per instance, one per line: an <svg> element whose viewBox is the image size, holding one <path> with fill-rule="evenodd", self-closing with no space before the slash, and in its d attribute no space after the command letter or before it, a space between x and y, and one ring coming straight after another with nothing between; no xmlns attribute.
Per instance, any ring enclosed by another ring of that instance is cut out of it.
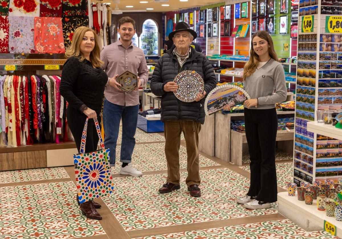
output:
<svg viewBox="0 0 342 239"><path fill-rule="evenodd" d="M249 166L241 166L240 168L250 172ZM278 186L287 189L287 183L293 181L293 163L276 164Z"/></svg>

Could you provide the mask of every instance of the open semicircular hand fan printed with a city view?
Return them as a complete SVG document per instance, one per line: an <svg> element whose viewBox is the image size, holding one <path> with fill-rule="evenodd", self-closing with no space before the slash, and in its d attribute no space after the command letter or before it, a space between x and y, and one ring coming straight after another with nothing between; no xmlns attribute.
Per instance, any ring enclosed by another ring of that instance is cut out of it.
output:
<svg viewBox="0 0 342 239"><path fill-rule="evenodd" d="M230 107L243 103L251 97L237 85L224 84L214 88L207 96L204 103L206 115L211 115L223 109L223 106L229 104Z"/></svg>

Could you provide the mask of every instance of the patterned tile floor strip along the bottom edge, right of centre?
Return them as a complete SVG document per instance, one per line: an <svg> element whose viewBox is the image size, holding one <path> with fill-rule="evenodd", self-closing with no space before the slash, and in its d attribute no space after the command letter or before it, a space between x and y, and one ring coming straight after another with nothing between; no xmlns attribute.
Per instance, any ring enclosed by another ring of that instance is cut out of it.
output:
<svg viewBox="0 0 342 239"><path fill-rule="evenodd" d="M326 231L305 231L289 220L185 231L134 239L333 239Z"/></svg>

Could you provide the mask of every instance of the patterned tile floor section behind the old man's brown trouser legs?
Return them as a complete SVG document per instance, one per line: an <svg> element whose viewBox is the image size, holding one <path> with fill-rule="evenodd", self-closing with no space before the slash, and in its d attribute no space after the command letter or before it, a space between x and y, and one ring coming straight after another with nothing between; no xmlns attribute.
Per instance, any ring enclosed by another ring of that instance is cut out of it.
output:
<svg viewBox="0 0 342 239"><path fill-rule="evenodd" d="M120 148L116 147L116 163L120 160ZM165 143L153 143L153 144L136 144L132 155L132 164L140 171L158 171L166 170L167 163L165 158ZM186 147L182 146L179 149L180 154L180 168L186 168L187 156ZM206 158L202 155L199 156L200 167L219 165L213 160ZM121 163L116 164L115 168L112 168L112 173L119 173Z"/></svg>

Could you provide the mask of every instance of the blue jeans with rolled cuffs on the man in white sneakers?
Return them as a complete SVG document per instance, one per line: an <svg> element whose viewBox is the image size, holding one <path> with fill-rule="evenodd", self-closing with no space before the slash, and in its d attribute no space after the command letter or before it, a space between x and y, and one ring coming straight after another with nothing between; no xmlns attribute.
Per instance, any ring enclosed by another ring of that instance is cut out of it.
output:
<svg viewBox="0 0 342 239"><path fill-rule="evenodd" d="M116 143L118 140L120 119L122 118L122 141L120 162L131 163L135 146L135 131L138 121L139 104L120 106L107 99L103 106L103 127L105 130L105 147L110 150L110 166L115 165Z"/></svg>

